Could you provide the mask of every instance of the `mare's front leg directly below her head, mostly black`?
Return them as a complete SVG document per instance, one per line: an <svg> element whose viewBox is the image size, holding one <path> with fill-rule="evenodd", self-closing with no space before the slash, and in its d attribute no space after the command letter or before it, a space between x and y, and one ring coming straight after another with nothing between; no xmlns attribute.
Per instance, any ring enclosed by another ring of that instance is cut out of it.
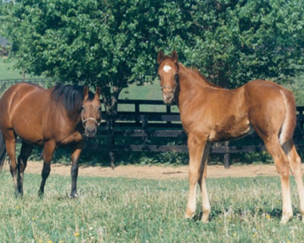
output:
<svg viewBox="0 0 304 243"><path fill-rule="evenodd" d="M71 188L71 197L77 197L77 176L78 176L78 159L81 154L81 150L84 146L84 142L73 144L72 147L72 167L71 167L71 177L72 177L72 188Z"/></svg>

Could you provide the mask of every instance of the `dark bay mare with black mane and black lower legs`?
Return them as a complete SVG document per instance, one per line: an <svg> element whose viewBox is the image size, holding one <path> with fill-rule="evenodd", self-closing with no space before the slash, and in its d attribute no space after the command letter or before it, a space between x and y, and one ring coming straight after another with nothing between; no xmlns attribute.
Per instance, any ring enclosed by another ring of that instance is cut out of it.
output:
<svg viewBox="0 0 304 243"><path fill-rule="evenodd" d="M84 135L94 137L101 119L100 88L95 94L87 86L56 85L44 89L20 83L10 87L0 99L0 166L7 151L15 192L23 194L23 176L33 145L43 146L43 195L57 147L71 146L71 197L77 196L78 159L84 146ZM16 161L17 136L22 140Z"/></svg>

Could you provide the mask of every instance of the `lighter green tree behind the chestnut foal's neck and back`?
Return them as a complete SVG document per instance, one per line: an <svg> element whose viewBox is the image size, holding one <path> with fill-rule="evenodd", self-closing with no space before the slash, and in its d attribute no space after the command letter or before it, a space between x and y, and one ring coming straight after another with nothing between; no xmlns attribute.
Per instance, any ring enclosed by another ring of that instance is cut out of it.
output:
<svg viewBox="0 0 304 243"><path fill-rule="evenodd" d="M225 88L283 83L303 71L303 11L303 0L177 1L165 40L184 64Z"/></svg>

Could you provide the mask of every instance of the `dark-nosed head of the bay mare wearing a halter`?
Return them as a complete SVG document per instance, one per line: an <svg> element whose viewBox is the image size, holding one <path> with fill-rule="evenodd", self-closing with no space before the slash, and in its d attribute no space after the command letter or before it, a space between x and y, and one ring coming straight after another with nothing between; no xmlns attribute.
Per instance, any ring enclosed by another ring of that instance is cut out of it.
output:
<svg viewBox="0 0 304 243"><path fill-rule="evenodd" d="M90 92L93 94L92 92ZM89 88L84 87L84 100L81 107L81 119L85 128L85 135L93 138L101 120L101 103L99 100L100 88L97 87L94 97L89 95Z"/></svg>

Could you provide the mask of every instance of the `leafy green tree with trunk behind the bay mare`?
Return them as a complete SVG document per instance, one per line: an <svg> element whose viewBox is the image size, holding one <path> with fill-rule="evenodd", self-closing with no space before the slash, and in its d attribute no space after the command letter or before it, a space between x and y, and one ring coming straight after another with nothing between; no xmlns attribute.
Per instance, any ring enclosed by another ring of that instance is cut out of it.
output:
<svg viewBox="0 0 304 243"><path fill-rule="evenodd" d="M99 85L107 114L121 90L155 76L161 1L22 0L2 20L16 67L60 82Z"/></svg>

